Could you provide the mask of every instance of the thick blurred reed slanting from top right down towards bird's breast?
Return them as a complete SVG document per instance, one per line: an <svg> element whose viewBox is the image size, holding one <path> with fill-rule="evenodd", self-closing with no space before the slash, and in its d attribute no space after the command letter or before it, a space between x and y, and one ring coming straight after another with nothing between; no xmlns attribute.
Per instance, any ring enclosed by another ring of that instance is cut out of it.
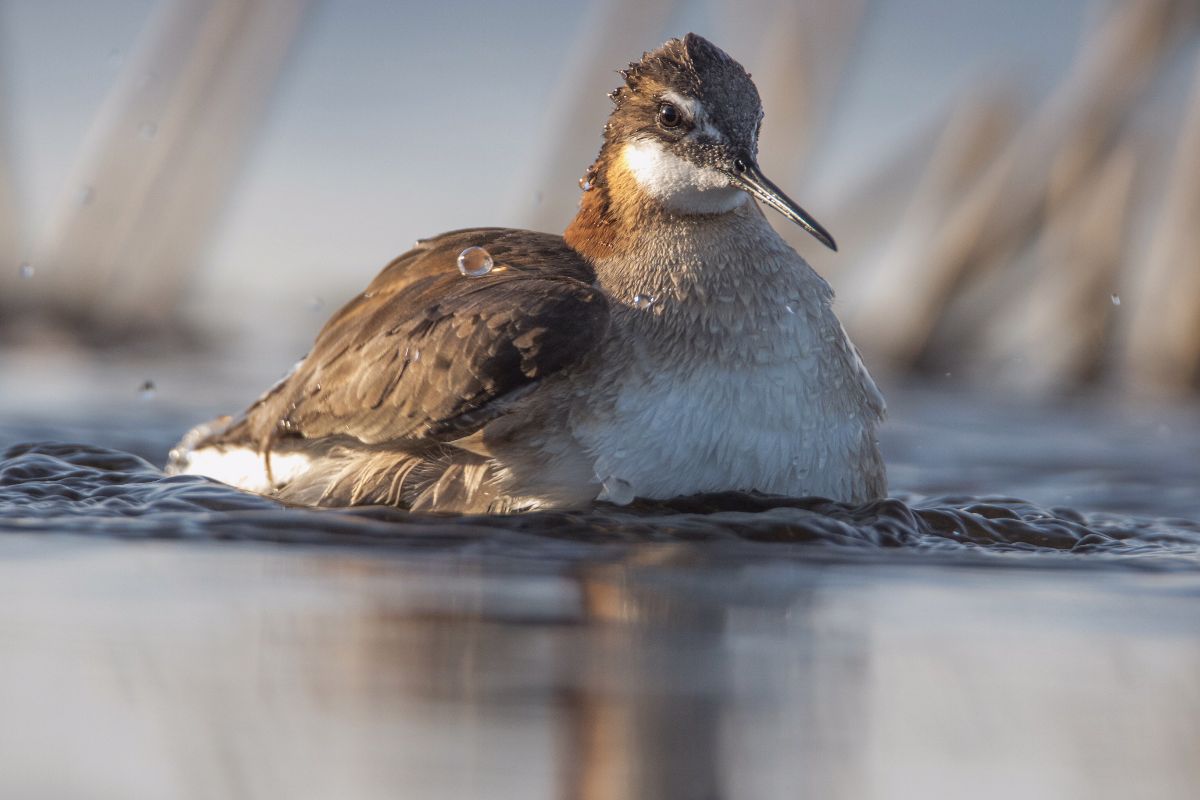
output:
<svg viewBox="0 0 1200 800"><path fill-rule="evenodd" d="M850 318L865 350L898 365L917 360L964 281L1036 231L1062 152L1075 158L1055 174L1057 191L1078 188L1194 12L1188 0L1116 5L1050 102L967 191L914 200L914 222L864 266Z"/></svg>

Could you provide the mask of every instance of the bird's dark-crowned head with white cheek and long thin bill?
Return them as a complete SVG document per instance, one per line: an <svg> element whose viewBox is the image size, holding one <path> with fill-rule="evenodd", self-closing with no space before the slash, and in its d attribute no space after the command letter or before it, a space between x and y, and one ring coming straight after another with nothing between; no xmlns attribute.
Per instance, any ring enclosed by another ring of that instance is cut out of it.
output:
<svg viewBox="0 0 1200 800"><path fill-rule="evenodd" d="M758 168L762 101L740 64L688 34L622 74L625 84L610 95L616 108L605 126L608 170L674 213L724 213L754 197L838 248Z"/></svg>

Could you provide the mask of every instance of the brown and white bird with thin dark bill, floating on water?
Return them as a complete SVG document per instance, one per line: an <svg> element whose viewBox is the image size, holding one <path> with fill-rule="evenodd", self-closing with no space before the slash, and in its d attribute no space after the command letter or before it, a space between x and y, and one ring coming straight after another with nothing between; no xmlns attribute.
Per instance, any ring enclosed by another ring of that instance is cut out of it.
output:
<svg viewBox="0 0 1200 800"><path fill-rule="evenodd" d="M836 243L763 175L750 74L697 34L618 72L562 235L419 240L167 471L457 513L883 497L883 397L829 284L760 204Z"/></svg>

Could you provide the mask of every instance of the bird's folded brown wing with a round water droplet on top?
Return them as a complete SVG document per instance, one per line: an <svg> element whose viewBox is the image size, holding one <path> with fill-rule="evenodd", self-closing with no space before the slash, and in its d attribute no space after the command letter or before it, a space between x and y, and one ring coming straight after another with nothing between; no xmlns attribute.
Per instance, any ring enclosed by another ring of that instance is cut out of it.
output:
<svg viewBox="0 0 1200 800"><path fill-rule="evenodd" d="M486 275L460 272L482 247ZM457 230L418 242L325 324L296 368L220 439L421 446L469 435L602 338L608 305L560 236Z"/></svg>

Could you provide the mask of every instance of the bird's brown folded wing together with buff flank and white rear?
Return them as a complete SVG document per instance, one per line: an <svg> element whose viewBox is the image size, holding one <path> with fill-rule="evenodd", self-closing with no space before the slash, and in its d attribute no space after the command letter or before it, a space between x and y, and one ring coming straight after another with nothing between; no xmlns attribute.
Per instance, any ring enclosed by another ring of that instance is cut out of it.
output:
<svg viewBox="0 0 1200 800"><path fill-rule="evenodd" d="M503 505L490 459L455 443L596 345L608 314L593 282L551 234L418 242L245 413L185 437L168 471L317 505Z"/></svg>

